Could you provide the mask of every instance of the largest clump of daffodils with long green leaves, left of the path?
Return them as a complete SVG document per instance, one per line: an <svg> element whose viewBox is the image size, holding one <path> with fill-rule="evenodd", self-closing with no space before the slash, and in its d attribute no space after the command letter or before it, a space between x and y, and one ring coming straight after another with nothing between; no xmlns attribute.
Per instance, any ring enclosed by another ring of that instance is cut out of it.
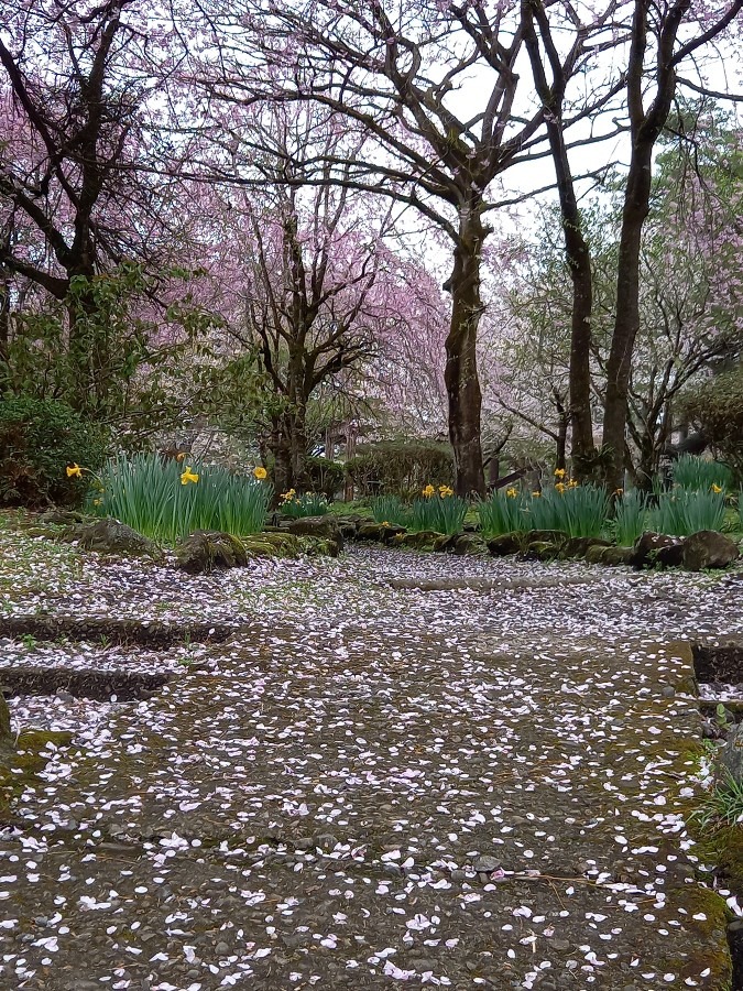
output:
<svg viewBox="0 0 743 991"><path fill-rule="evenodd" d="M114 516L152 540L174 544L195 530L248 536L263 530L273 489L225 468L120 456L99 475L92 512Z"/></svg>

